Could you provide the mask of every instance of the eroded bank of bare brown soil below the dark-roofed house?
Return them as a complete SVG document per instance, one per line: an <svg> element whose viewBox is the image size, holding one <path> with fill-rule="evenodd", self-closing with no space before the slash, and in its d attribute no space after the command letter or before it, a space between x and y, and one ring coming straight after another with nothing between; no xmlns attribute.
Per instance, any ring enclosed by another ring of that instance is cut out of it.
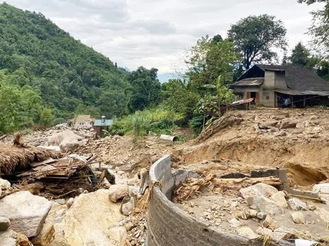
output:
<svg viewBox="0 0 329 246"><path fill-rule="evenodd" d="M212 130L208 139L191 141L174 152L180 167L218 173L287 167L293 182L304 187L329 177L329 111L261 109L234 111L226 118L230 124L221 119L215 126L220 130ZM281 128L284 122L295 127Z"/></svg>

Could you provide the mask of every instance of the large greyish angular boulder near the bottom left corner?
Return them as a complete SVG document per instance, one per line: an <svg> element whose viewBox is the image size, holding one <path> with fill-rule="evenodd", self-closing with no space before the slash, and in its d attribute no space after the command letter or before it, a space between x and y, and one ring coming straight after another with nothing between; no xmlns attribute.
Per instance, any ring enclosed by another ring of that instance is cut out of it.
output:
<svg viewBox="0 0 329 246"><path fill-rule="evenodd" d="M0 216L10 219L10 228L27 237L37 236L51 208L44 197L19 191L0 200Z"/></svg>

